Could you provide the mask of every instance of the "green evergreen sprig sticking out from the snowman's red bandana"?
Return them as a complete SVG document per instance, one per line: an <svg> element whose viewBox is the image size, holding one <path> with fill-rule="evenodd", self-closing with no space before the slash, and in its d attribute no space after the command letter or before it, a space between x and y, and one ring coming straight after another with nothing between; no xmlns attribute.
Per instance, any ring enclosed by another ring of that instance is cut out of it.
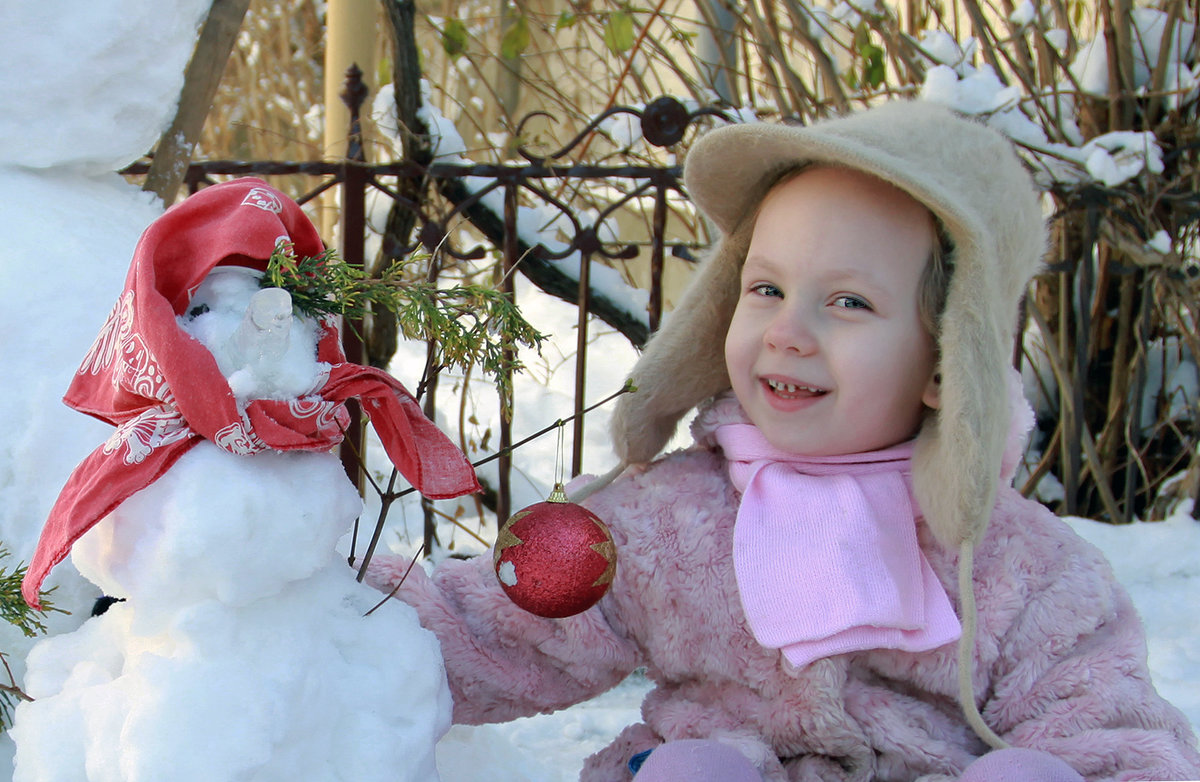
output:
<svg viewBox="0 0 1200 782"><path fill-rule="evenodd" d="M372 309L395 313L407 338L434 345L437 366L462 371L480 367L497 381L508 403L512 391L510 373L522 368L514 348L540 350L546 336L503 291L476 284L440 287L406 273L427 259L418 255L406 263L395 261L373 277L331 249L298 257L290 245L281 243L268 260L260 284L283 288L292 294L296 309L310 317L337 314L354 321Z"/></svg>

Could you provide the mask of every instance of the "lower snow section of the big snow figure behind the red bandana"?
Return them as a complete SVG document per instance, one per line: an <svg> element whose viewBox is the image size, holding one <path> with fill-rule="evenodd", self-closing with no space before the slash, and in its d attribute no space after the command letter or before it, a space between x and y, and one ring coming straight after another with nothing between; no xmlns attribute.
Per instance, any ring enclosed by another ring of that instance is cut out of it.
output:
<svg viewBox="0 0 1200 782"><path fill-rule="evenodd" d="M112 434L62 404L62 393L121 290L138 236L161 209L115 175L4 167L0 203L0 339L14 384L0 393L0 540L28 563L59 487ZM78 581L72 576L61 567L50 585L61 586L55 604L77 610L84 603L65 594ZM0 649L16 651L2 631Z"/></svg>

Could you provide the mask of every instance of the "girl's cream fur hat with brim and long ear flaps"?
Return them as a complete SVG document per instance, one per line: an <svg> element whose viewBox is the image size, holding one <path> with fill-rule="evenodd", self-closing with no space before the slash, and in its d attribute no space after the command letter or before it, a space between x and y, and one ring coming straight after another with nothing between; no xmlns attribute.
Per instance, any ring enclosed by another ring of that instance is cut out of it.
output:
<svg viewBox="0 0 1200 782"><path fill-rule="evenodd" d="M810 163L854 168L904 190L953 243L938 338L941 409L918 435L913 483L937 540L973 546L995 501L1018 306L1040 264L1045 227L1009 142L934 103L898 101L809 127L734 125L696 142L684 184L720 239L634 367L637 391L613 415L617 455L623 465L649 462L685 413L730 387L725 332L755 210L779 174Z"/></svg>

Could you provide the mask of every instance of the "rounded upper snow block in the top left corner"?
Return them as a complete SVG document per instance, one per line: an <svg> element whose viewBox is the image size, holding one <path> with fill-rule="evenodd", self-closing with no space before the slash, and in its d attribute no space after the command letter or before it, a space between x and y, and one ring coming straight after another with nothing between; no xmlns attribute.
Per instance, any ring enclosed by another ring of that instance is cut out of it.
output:
<svg viewBox="0 0 1200 782"><path fill-rule="evenodd" d="M210 5L6 2L0 164L110 174L144 155L175 110Z"/></svg>

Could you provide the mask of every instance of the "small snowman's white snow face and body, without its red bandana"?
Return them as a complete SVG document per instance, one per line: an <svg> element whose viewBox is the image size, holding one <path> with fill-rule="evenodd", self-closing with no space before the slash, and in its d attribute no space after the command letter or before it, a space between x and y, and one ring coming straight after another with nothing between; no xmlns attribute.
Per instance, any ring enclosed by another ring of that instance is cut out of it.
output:
<svg viewBox="0 0 1200 782"><path fill-rule="evenodd" d="M314 324L216 271L180 325L239 401L319 385ZM336 552L360 511L332 453L209 441L121 503L72 558L125 600L30 652L14 782L436 781L440 651L398 601L365 615Z"/></svg>

